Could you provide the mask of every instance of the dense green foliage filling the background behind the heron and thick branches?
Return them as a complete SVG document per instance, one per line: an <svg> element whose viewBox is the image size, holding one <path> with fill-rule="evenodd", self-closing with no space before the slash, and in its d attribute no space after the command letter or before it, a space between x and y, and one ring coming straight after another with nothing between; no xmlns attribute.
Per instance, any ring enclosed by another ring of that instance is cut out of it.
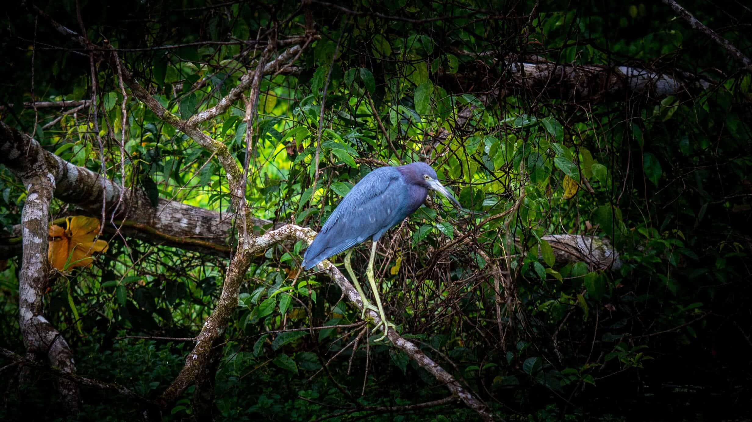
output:
<svg viewBox="0 0 752 422"><path fill-rule="evenodd" d="M76 2L38 7L80 31ZM684 7L752 52L737 29L750 17L744 6ZM26 9L2 19L3 122L153 200L232 218L216 158L121 89L117 69L90 61ZM499 414L715 419L749 404L750 73L668 6L80 2L80 20L92 42L106 40L183 119L253 72L264 45L249 41L274 38L284 50L293 44L286 40L315 32L299 43L305 50L294 68L261 81L253 131L242 101L201 129L247 166L255 216L312 228L374 167L429 161L465 211L434 197L385 235L382 298L405 338ZM509 82L515 58L532 56L707 84L660 98L562 98ZM74 113L24 106L90 98L96 107ZM0 192L4 241L17 242L10 232L26 191L2 166ZM70 215L71 206L53 202L50 221ZM556 260L546 239L559 234L596 237L596 248L619 252L620 266ZM126 337L195 336L219 297L229 255L105 240L109 248L91 268L54 273L45 314L73 346L80 374L157 396L191 343ZM251 264L217 348L217 419L344 412L332 420L474 420L456 402L397 415L379 408L447 393L404 352L368 342L360 312L337 286L299 273L303 250L302 241L275 246ZM0 345L23 354L21 261L6 258ZM362 246L356 270L367 260ZM17 419L35 406L41 419L60 417L46 382L54 375L20 385L6 376L14 370L0 367L0 414ZM83 392L79 420L138 417L129 399ZM192 399L190 388L165 418L188 419Z"/></svg>

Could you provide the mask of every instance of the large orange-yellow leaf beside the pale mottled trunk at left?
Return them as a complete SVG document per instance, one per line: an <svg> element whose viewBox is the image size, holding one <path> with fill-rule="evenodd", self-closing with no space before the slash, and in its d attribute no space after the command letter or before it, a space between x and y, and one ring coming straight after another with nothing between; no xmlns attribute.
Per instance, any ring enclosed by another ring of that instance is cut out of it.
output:
<svg viewBox="0 0 752 422"><path fill-rule="evenodd" d="M99 219L84 216L65 219L65 229L58 225L48 231L47 259L50 266L61 271L73 267L91 267L94 252L106 252L107 242L97 240Z"/></svg>

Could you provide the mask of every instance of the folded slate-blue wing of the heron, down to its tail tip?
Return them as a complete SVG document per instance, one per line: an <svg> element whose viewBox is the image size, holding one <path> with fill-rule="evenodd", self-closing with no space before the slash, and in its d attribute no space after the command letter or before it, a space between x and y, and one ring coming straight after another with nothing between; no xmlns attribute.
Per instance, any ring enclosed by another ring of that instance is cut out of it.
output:
<svg viewBox="0 0 752 422"><path fill-rule="evenodd" d="M324 223L303 256L305 270L372 239L402 221L405 182L394 167L381 167L356 183Z"/></svg>

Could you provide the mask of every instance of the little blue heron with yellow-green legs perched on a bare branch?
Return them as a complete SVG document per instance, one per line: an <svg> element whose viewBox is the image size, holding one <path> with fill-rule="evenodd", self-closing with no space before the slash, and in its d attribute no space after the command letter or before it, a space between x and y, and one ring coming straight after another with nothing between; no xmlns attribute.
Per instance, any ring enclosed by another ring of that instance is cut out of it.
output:
<svg viewBox="0 0 752 422"><path fill-rule="evenodd" d="M344 258L344 266L350 273L353 284L363 301L361 316L365 315L366 308L377 311L384 324L384 336L387 336L389 323L374 281L376 246L384 232L398 225L405 217L418 209L426 200L429 189L441 192L459 207L459 202L447 188L441 185L441 182L436 179L436 172L426 163L415 162L399 167L379 167L371 171L344 195L344 199L326 220L303 256L302 267L310 270L326 258L371 239L373 241L371 258L368 260L368 270L365 274L368 276L368 283L371 285L378 308L368 303L353 268L350 267L352 249ZM384 336L381 336L380 340Z"/></svg>

